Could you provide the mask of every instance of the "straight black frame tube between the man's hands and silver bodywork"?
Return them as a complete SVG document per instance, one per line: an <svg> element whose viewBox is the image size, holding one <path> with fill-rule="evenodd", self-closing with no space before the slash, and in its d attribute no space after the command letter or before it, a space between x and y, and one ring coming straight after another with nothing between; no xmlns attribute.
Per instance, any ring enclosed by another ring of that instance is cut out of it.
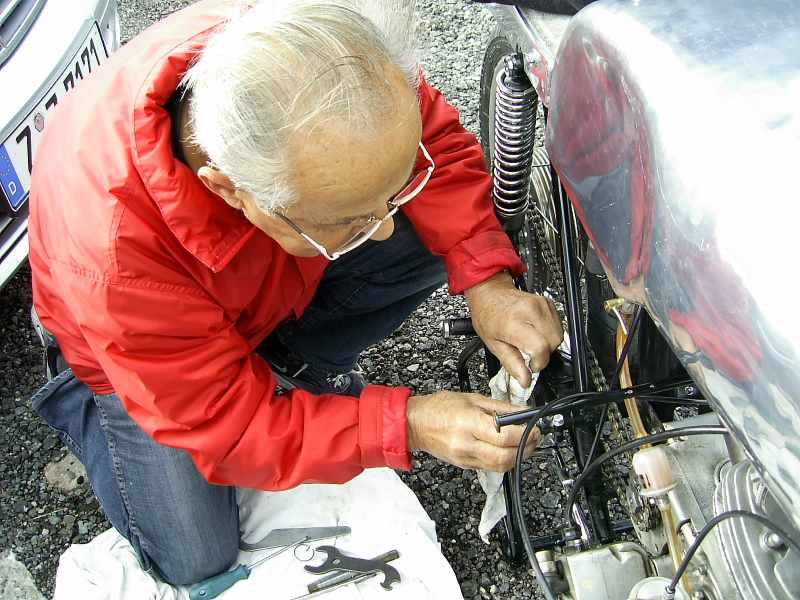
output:
<svg viewBox="0 0 800 600"><path fill-rule="evenodd" d="M578 240L575 213L566 191L561 186L555 169L551 166L553 197L556 199L558 229L561 233L561 268L564 274L564 303L567 316L567 335L572 356L572 375L575 392L590 391L589 360L586 330L583 326L580 271L578 269ZM594 442L598 427L596 409L578 409L572 412L572 443L575 448L575 462L579 471L586 466L586 458ZM599 473L586 482L586 500L589 505L589 521L595 537L606 543L612 538L611 517L602 478Z"/></svg>

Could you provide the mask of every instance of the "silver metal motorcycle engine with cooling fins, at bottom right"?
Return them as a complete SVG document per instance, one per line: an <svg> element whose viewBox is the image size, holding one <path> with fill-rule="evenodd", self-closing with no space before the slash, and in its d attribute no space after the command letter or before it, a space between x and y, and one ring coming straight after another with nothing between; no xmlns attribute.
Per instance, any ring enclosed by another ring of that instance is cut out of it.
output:
<svg viewBox="0 0 800 600"><path fill-rule="evenodd" d="M714 413L665 428L716 425ZM678 438L666 446L675 487L668 492L685 552L697 532L729 510L761 514L791 531L786 515L735 442L721 436ZM642 503L655 502L641 498ZM636 541L565 547L537 553L551 587L563 600L661 600L675 574L664 525L637 527ZM739 518L720 523L692 559L676 598L791 600L800 598L800 557L763 525ZM688 584L688 585L687 585Z"/></svg>

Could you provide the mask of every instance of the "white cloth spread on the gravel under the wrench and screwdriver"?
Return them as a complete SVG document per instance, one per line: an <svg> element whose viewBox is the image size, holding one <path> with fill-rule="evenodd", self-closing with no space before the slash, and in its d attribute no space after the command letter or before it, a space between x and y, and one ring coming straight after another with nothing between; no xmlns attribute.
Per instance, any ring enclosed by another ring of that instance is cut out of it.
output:
<svg viewBox="0 0 800 600"><path fill-rule="evenodd" d="M286 492L240 490L241 527L245 541L262 539L272 529L348 525L352 533L324 544L361 558L371 558L396 549L393 561L402 577L394 584L392 600L461 598L456 577L442 556L436 525L414 493L391 469L368 469L342 485L303 485ZM239 562L248 564L266 552L240 552ZM274 551L273 551L274 552ZM298 552L298 556L303 558ZM250 577L233 585L222 600L289 600L307 592L306 586L320 575L307 573L305 564L320 564L324 554L303 563L292 551L253 569ZM383 575L341 587L325 600L381 598ZM88 544L74 544L61 556L53 600L187 600L187 588L174 588L157 581L139 567L130 544L115 530L99 535Z"/></svg>

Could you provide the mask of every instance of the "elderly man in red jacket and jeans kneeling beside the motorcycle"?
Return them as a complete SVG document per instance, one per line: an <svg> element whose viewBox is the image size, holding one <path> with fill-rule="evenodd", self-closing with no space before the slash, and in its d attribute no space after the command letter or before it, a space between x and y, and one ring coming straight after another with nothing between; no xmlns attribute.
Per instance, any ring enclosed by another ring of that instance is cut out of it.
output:
<svg viewBox="0 0 800 600"><path fill-rule="evenodd" d="M235 559L234 486L408 469L413 449L512 464L520 431L490 416L509 405L356 368L446 275L519 379L519 350L540 368L561 339L552 305L512 285L480 147L413 59L411 4L201 1L48 125L34 306L71 369L34 408L167 582Z"/></svg>

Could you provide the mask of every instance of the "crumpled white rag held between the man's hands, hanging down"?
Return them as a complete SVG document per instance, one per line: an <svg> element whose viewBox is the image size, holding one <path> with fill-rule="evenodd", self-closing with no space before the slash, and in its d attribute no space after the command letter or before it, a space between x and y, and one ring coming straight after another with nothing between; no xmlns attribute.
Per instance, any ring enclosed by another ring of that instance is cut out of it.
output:
<svg viewBox="0 0 800 600"><path fill-rule="evenodd" d="M523 354L523 356L525 355ZM525 362L529 360L530 357L525 356ZM501 367L497 375L489 381L489 389L492 392L492 398L495 400L503 400L517 406L525 406L538 378L538 373L532 373L531 384L528 387L522 387L519 381L506 372L505 367ZM478 470L478 482L486 493L486 502L483 505L483 512L481 512L481 522L478 523L478 534L488 544L489 532L506 515L503 474L481 469Z"/></svg>

